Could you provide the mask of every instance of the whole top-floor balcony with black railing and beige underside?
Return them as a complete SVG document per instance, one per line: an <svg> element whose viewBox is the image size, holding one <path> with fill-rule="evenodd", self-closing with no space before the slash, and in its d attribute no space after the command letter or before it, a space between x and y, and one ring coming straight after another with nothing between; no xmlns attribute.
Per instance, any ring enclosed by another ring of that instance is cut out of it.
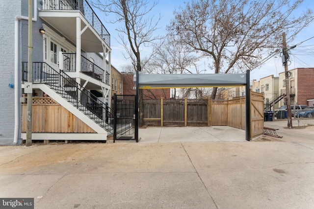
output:
<svg viewBox="0 0 314 209"><path fill-rule="evenodd" d="M39 17L73 43L79 27L81 48L86 52L104 52L103 42L110 47L109 32L86 0L43 0Z"/></svg>

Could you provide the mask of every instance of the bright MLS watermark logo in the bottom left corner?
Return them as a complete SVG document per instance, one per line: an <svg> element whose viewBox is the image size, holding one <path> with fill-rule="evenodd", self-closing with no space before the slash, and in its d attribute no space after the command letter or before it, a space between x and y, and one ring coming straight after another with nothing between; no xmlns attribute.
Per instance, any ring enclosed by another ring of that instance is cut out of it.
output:
<svg viewBox="0 0 314 209"><path fill-rule="evenodd" d="M34 198L0 198L0 209L34 209Z"/></svg>

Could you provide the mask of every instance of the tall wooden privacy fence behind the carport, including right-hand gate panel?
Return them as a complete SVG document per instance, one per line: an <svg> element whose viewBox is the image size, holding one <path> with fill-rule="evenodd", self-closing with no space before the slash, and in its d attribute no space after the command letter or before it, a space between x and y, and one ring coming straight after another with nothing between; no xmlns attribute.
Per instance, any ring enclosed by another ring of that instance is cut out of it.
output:
<svg viewBox="0 0 314 209"><path fill-rule="evenodd" d="M245 97L144 100L144 125L222 125L245 130ZM251 138L263 134L263 94L251 92Z"/></svg>

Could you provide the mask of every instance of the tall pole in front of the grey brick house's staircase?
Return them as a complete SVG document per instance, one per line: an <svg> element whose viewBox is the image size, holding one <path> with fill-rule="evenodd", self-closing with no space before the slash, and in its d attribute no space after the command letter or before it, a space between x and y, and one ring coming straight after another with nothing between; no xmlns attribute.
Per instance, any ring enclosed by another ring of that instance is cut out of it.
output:
<svg viewBox="0 0 314 209"><path fill-rule="evenodd" d="M36 12L36 11L34 11ZM28 0L28 63L27 63L27 83L33 82L33 33L32 33L32 0ZM26 87L24 87L24 90ZM27 120L26 120L26 146L31 146L32 144L32 85L30 89L27 90Z"/></svg>

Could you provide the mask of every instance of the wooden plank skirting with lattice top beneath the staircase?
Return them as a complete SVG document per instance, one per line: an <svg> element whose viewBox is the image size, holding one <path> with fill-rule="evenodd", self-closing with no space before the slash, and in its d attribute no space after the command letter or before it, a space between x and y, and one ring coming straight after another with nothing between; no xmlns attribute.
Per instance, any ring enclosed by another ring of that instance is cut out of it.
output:
<svg viewBox="0 0 314 209"><path fill-rule="evenodd" d="M22 132L26 132L27 105L22 105ZM40 133L96 133L51 97L34 97L32 104L32 132Z"/></svg>

